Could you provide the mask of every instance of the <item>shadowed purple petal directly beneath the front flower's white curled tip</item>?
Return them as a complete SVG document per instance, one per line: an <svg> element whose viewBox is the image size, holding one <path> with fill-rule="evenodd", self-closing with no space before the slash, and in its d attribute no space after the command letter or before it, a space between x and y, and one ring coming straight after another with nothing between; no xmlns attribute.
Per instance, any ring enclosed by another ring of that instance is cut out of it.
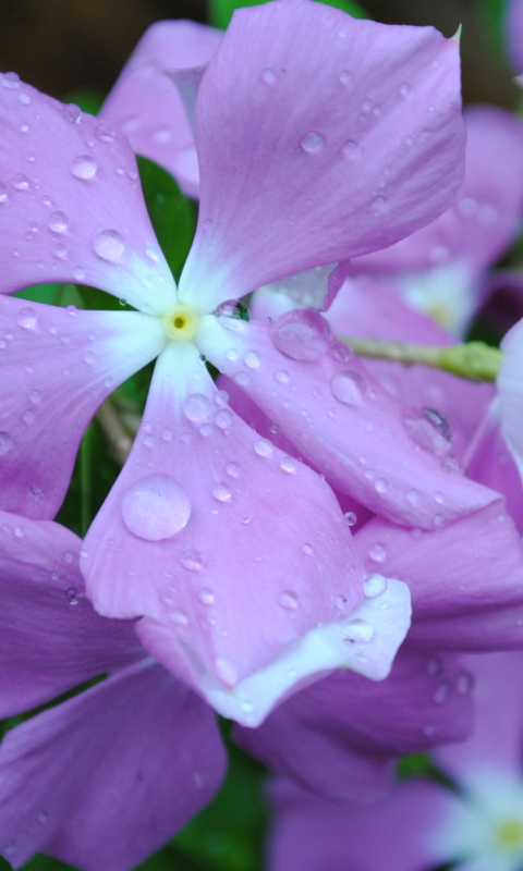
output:
<svg viewBox="0 0 523 871"><path fill-rule="evenodd" d="M427 671L430 662L426 653L402 648L380 683L338 672L297 692L258 728L236 726L234 740L324 798L376 800L392 787L394 757L463 740L471 732L471 698L455 691L465 674L460 661L443 658L437 673ZM453 689L446 704L435 704L442 680Z"/></svg>

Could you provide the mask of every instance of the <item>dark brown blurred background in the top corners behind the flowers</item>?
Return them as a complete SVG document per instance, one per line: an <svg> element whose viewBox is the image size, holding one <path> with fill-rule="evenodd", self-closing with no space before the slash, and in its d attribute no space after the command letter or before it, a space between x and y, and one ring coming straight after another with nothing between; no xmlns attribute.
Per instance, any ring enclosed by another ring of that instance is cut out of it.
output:
<svg viewBox="0 0 523 871"><path fill-rule="evenodd" d="M482 0L366 0L363 5L376 21L433 24L446 36L463 24L465 102L515 107L518 90L482 16ZM0 0L0 70L13 70L58 98L93 86L107 93L149 24L205 16L205 0Z"/></svg>

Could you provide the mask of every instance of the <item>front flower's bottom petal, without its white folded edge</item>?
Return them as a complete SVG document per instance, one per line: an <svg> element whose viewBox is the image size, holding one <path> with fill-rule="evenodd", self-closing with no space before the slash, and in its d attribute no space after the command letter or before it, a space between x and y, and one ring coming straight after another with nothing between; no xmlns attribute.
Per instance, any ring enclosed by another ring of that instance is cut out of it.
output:
<svg viewBox="0 0 523 871"><path fill-rule="evenodd" d="M190 343L160 355L130 459L85 550L96 609L169 627L169 667L196 687L207 673L234 686L363 598L328 486L228 408Z"/></svg>

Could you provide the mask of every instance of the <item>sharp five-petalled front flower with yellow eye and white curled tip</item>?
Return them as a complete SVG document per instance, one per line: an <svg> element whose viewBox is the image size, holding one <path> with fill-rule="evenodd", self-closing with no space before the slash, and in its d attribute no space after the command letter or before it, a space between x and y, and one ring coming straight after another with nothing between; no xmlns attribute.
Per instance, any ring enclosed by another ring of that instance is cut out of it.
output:
<svg viewBox="0 0 523 871"><path fill-rule="evenodd" d="M123 135L13 74L0 82L2 290L88 282L138 309L0 300L2 506L52 517L87 420L158 356L130 461L85 541L87 592L106 616L143 616L155 657L250 725L340 664L384 677L410 606L397 580L390 618L364 599L331 490L234 415L202 353L333 483L393 520L431 529L496 498L413 447L398 404L328 331L304 359L227 305L440 213L462 175L458 78L457 42L431 28L306 0L239 12L199 86L199 220L178 290ZM376 633L365 663L343 641L356 618Z"/></svg>

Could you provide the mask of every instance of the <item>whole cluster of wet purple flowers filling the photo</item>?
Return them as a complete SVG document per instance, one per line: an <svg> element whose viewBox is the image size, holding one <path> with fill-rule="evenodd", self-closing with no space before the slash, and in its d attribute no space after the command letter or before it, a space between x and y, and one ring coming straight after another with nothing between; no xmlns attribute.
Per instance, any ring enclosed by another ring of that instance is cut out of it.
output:
<svg viewBox="0 0 523 871"><path fill-rule="evenodd" d="M198 199L178 284L136 154ZM0 715L46 706L0 746L13 868L158 849L224 775L214 709L279 775L275 871L515 871L523 321L497 389L350 345L459 342L522 214L523 125L462 114L430 27L158 23L98 118L0 75ZM153 361L80 539L54 518L83 434ZM435 747L461 803L396 784Z"/></svg>

